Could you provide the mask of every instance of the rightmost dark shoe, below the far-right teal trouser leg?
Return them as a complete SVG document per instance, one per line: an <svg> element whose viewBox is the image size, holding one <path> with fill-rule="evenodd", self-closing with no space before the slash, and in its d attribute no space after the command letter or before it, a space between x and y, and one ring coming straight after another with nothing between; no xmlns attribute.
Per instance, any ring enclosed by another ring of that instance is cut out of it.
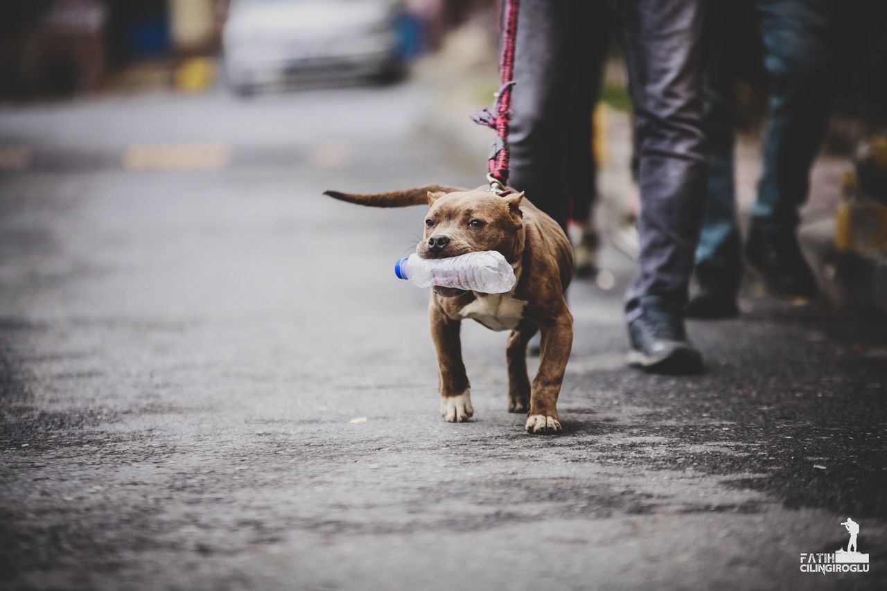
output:
<svg viewBox="0 0 887 591"><path fill-rule="evenodd" d="M797 232L773 232L751 225L745 257L774 296L816 296L816 277L797 243Z"/></svg>

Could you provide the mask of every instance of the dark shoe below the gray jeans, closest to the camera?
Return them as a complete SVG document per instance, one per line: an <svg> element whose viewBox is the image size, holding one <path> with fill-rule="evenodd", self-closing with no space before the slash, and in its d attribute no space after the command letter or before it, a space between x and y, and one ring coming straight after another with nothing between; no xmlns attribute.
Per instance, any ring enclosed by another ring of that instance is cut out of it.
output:
<svg viewBox="0 0 887 591"><path fill-rule="evenodd" d="M640 316L628 325L628 362L657 374L699 374L703 356L687 340L680 306L661 296L640 300Z"/></svg>

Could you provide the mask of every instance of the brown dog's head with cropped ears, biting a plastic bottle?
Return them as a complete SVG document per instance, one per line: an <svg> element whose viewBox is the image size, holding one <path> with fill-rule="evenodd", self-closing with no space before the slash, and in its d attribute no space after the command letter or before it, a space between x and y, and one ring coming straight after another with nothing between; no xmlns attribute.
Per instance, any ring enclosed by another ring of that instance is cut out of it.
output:
<svg viewBox="0 0 887 591"><path fill-rule="evenodd" d="M499 197L487 191L428 192L431 209L425 234L416 247L422 258L447 258L480 250L496 250L509 262L523 252L523 193ZM459 290L436 288L441 296Z"/></svg>

